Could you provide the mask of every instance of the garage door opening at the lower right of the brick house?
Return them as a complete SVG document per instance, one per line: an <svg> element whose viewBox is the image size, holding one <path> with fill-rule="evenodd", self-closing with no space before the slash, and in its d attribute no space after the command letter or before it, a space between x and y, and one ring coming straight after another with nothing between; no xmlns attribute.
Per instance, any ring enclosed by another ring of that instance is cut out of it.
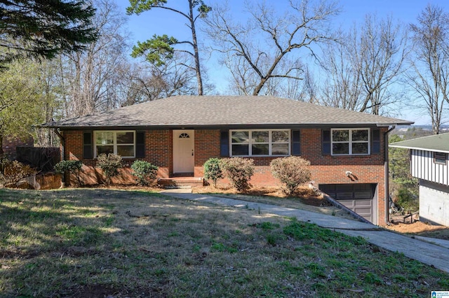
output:
<svg viewBox="0 0 449 298"><path fill-rule="evenodd" d="M321 184L319 189L377 225L376 184Z"/></svg>

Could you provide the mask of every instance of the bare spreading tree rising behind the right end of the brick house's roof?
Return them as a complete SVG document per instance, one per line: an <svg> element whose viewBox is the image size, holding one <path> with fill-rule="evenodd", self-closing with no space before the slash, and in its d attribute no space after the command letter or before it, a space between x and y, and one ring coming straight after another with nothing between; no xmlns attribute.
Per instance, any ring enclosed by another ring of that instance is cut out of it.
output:
<svg viewBox="0 0 449 298"><path fill-rule="evenodd" d="M382 113L398 101L398 82L408 55L408 34L391 17L378 20L366 15L365 22L343 34L340 43L326 50L327 73L323 100L326 105L349 110Z"/></svg>

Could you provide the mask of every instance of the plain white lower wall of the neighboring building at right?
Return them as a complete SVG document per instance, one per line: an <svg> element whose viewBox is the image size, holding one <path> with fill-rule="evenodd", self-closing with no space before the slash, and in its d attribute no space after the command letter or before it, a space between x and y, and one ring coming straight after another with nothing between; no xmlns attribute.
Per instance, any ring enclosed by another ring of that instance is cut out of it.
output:
<svg viewBox="0 0 449 298"><path fill-rule="evenodd" d="M449 226L449 186L420 180L420 221Z"/></svg>

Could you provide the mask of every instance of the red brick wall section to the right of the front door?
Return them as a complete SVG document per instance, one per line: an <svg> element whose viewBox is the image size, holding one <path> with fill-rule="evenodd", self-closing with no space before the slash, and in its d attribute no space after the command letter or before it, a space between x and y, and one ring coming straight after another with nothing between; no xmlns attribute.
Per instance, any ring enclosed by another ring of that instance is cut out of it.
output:
<svg viewBox="0 0 449 298"><path fill-rule="evenodd" d="M385 220L385 179L384 179L384 139L382 135L387 128L381 129L380 153L368 156L331 156L322 155L321 129L301 129L301 157L311 162L312 180L316 187L319 184L351 184L373 183L377 184L377 222L382 225ZM220 156L220 131L210 134L195 134L196 153L199 148L203 157L195 157L195 176L203 176L202 164L208 157ZM210 144L210 146L206 146ZM203 147L201 147L203 146ZM214 147L216 146L216 147ZM215 149L214 149L215 148ZM271 173L269 163L274 157L251 157L254 160L255 172L251 178L252 185L273 186L279 185L279 180ZM346 176L351 171L352 180ZM227 184L226 179L219 183Z"/></svg>

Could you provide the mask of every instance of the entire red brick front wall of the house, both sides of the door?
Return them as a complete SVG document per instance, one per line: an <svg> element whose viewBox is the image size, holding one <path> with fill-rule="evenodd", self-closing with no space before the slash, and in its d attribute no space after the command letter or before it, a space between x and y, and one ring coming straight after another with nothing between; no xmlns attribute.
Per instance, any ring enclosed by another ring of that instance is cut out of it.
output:
<svg viewBox="0 0 449 298"><path fill-rule="evenodd" d="M381 136L387 128L382 129ZM83 134L81 131L63 132L65 136L65 159L83 161L85 183L95 184L102 181L101 170L95 168L95 160L83 160ZM384 190L384 139L381 137L380 154L369 156L330 156L321 153L321 129L302 129L302 157L311 162L312 180L314 185L339 183L375 183L378 197L378 222L382 224L385 218ZM159 177L168 178L173 174L173 132L170 130L151 130L145 134L145 160L159 166ZM200 129L195 131L194 176L203 176L203 164L210 157L220 157L220 130ZM253 185L279 185L271 173L269 163L274 157L252 157L255 163L255 173L250 183ZM129 166L134 159L123 159L126 166L121 169L119 177L113 183L134 183ZM351 171L354 178L346 176ZM227 180L220 181L227 183Z"/></svg>

